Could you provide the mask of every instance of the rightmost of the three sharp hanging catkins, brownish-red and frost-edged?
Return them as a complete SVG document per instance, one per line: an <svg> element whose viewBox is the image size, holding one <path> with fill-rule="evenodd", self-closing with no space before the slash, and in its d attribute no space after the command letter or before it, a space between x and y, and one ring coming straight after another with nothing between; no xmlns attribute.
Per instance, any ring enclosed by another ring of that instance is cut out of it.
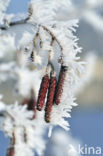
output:
<svg viewBox="0 0 103 156"><path fill-rule="evenodd" d="M57 105L60 103L67 70L68 70L67 66L63 66L63 65L61 66L58 83L57 83L56 90L55 90L55 97L54 97L54 102Z"/></svg>

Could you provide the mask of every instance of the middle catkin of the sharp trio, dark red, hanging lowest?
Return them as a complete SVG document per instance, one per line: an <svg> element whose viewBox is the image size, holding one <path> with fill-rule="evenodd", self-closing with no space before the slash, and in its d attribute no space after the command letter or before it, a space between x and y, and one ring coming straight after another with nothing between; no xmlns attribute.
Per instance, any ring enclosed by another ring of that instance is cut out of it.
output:
<svg viewBox="0 0 103 156"><path fill-rule="evenodd" d="M51 76L50 83L49 83L47 102L46 102L46 107L45 107L45 121L46 122L50 122L50 114L51 114L52 106L53 106L55 88L56 88L56 78Z"/></svg>

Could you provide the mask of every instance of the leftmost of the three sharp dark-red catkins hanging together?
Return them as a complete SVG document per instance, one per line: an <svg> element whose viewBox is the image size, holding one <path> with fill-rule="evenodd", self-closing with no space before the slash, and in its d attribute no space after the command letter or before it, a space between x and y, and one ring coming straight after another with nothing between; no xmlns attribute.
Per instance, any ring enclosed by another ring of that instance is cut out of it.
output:
<svg viewBox="0 0 103 156"><path fill-rule="evenodd" d="M41 82L41 86L40 86L40 90L39 90L39 94L38 94L37 110L39 110L39 111L41 111L44 107L45 97L46 97L48 87L49 87L49 75L46 74L42 78L42 82Z"/></svg>

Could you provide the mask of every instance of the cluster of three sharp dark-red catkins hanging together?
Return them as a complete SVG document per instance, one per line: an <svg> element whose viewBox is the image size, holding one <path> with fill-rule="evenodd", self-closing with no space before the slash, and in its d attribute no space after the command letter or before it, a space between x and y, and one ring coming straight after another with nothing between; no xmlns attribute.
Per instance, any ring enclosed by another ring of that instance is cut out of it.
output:
<svg viewBox="0 0 103 156"><path fill-rule="evenodd" d="M59 78L56 80L56 72L53 65L51 63L47 65L46 73L42 78L37 100L37 110L42 111L45 107L46 122L50 122L50 114L53 104L60 104L60 98L63 92L63 84L67 70L68 67L62 64Z"/></svg>

